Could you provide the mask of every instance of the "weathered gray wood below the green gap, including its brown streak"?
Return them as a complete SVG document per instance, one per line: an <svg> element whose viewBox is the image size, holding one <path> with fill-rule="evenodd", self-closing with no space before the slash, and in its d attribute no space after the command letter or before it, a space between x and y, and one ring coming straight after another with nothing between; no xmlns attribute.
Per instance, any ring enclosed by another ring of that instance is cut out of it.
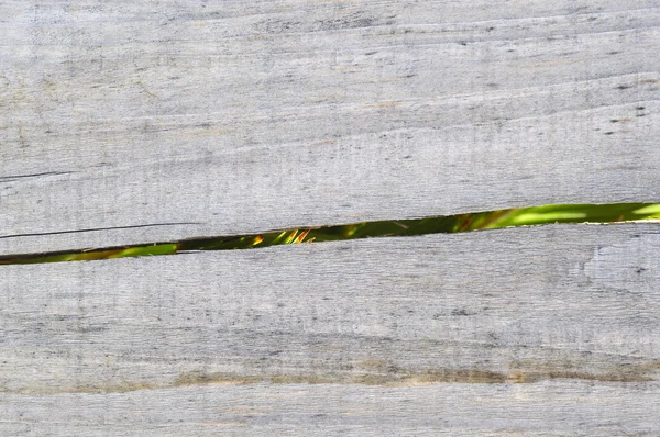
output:
<svg viewBox="0 0 660 437"><path fill-rule="evenodd" d="M3 266L0 430L658 435L659 253L549 225Z"/></svg>

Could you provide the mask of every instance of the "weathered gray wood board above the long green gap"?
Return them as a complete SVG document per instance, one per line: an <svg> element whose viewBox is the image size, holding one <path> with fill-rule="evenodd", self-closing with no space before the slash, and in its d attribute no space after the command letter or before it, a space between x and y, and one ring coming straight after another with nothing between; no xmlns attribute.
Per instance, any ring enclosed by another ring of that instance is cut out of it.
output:
<svg viewBox="0 0 660 437"><path fill-rule="evenodd" d="M660 201L658 7L2 1L0 255Z"/></svg>

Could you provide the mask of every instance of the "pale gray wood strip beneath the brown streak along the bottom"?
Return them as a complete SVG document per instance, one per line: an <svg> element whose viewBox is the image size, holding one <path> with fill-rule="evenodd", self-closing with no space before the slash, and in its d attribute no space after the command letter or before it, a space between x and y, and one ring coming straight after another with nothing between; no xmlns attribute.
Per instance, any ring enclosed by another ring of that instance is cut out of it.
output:
<svg viewBox="0 0 660 437"><path fill-rule="evenodd" d="M191 385L0 394L0 434L85 436L657 436L658 383Z"/></svg>

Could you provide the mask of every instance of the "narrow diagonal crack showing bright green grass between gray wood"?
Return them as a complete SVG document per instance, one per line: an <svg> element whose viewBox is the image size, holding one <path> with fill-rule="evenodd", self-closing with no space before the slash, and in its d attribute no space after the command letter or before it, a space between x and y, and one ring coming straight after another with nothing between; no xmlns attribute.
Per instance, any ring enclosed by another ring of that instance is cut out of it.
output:
<svg viewBox="0 0 660 437"><path fill-rule="evenodd" d="M190 250L233 250L311 242L332 242L386 236L415 236L496 229L508 226L549 223L614 223L659 220L659 203L617 203L606 205L543 205L441 217L365 222L308 229L288 229L235 237L212 237L183 242L158 243L135 247L114 247L56 254L34 254L0 257L0 265L61 261L85 261L173 255Z"/></svg>

